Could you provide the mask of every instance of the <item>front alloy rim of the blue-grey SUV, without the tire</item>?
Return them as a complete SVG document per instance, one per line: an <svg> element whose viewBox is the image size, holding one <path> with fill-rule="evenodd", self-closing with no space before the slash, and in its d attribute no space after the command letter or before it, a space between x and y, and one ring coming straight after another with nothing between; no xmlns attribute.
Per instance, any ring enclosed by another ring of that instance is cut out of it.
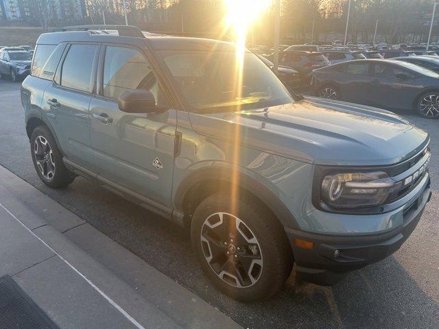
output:
<svg viewBox="0 0 439 329"><path fill-rule="evenodd" d="M201 247L215 274L233 287L250 287L262 273L262 252L250 228L238 217L215 212L203 223Z"/></svg>

